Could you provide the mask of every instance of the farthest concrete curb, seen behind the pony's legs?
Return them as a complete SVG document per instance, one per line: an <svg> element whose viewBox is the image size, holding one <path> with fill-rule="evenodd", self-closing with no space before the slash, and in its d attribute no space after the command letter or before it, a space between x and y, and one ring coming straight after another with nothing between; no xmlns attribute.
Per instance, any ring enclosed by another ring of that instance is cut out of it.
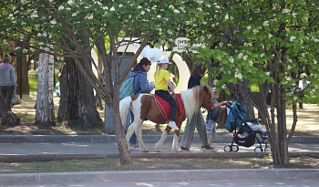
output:
<svg viewBox="0 0 319 187"><path fill-rule="evenodd" d="M144 142L157 142L160 135L144 135ZM171 142L173 135L169 135L165 142ZM181 137L180 137L181 140ZM115 135L0 135L0 143L63 143L63 142L116 142ZM201 142L200 136L193 137L192 142ZM230 136L218 136L214 139L216 143L231 143L232 134ZM318 143L319 137L315 136L293 136L290 143Z"/></svg>

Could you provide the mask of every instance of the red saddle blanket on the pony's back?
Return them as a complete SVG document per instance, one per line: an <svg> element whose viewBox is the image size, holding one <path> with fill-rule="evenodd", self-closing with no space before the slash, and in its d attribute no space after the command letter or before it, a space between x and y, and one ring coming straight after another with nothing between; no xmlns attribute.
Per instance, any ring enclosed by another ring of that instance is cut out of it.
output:
<svg viewBox="0 0 319 187"><path fill-rule="evenodd" d="M164 119L170 119L170 103L166 101L165 99L160 98L160 96L153 95L153 98L155 100L155 104L160 110L160 114ZM180 119L181 116L184 114L184 104L183 101L180 98L180 94L176 94L176 101L177 101L177 115L176 118Z"/></svg>

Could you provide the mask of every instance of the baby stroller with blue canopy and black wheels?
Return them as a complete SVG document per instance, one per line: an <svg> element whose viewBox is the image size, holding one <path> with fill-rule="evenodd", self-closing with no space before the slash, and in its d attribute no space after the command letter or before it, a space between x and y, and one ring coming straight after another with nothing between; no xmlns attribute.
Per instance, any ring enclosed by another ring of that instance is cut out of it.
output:
<svg viewBox="0 0 319 187"><path fill-rule="evenodd" d="M255 140L259 143L259 146L254 149L255 152L267 151L268 145L266 140L268 140L268 136L266 133L260 130L252 130L251 128L252 125L259 125L258 121L261 119L248 119L246 109L238 101L234 101L232 106L226 106L231 109L226 122L226 130L230 132L235 131L232 137L232 144L226 145L224 151L237 152L239 146L250 148L255 144ZM234 142L237 145L234 145ZM264 144L264 149L262 149L262 144Z"/></svg>

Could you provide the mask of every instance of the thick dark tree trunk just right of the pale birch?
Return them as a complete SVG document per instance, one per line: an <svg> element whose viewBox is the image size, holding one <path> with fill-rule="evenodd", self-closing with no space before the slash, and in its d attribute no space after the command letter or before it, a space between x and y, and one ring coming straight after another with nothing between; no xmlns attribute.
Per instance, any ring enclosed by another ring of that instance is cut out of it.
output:
<svg viewBox="0 0 319 187"><path fill-rule="evenodd" d="M66 57L65 62L60 77L61 99L57 119L67 120L68 125L84 130L103 128L93 88L82 76L73 58Z"/></svg>

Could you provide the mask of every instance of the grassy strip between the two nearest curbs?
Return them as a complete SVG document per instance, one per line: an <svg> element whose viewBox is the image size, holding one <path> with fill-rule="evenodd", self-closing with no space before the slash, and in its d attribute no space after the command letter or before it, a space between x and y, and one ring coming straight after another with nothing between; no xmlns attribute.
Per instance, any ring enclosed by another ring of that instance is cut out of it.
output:
<svg viewBox="0 0 319 187"><path fill-rule="evenodd" d="M0 174L80 171L153 171L153 170L214 170L214 169L273 169L270 156L245 159L133 159L131 165L120 165L119 159L71 160L46 162L0 163ZM290 159L293 169L315 169L319 159ZM165 163L165 164L162 164Z"/></svg>

